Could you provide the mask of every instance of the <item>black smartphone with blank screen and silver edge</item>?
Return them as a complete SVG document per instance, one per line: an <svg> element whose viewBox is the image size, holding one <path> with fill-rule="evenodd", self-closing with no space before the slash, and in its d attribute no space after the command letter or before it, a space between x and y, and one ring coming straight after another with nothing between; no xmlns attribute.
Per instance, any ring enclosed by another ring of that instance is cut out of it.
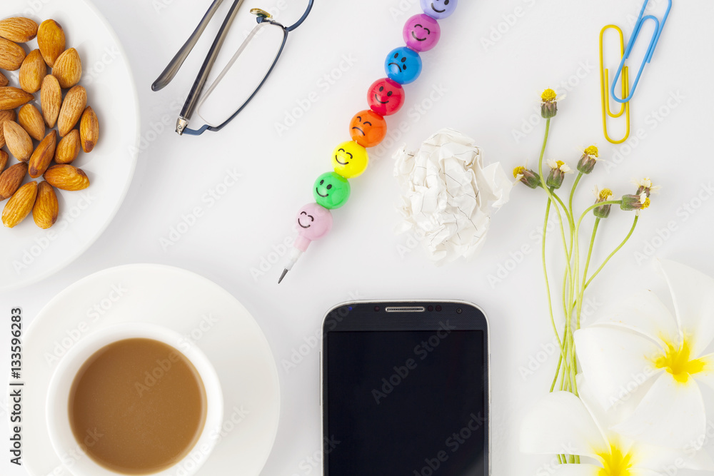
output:
<svg viewBox="0 0 714 476"><path fill-rule="evenodd" d="M476 305L338 305L321 365L325 476L490 475L488 323Z"/></svg>

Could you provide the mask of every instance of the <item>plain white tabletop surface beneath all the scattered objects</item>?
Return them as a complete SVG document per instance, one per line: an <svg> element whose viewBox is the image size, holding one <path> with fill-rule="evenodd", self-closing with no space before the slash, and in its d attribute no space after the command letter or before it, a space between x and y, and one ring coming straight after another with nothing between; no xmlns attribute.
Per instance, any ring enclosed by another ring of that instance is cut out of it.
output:
<svg viewBox="0 0 714 476"><path fill-rule="evenodd" d="M403 123L406 132L372 154L367 173L353 181L350 203L334 213L331 236L314 243L280 286L280 264L267 269L265 262L293 236L294 214L312 200L311 184L330 169L334 146L348 140L348 122L367 107L366 88L383 77L384 55L401 46L403 23L421 11L418 2L318 0L306 23L288 38L256 101L224 131L200 138L178 137L174 123L218 19L171 85L159 93L150 85L193 31L208 0L95 3L123 42L139 88L142 136L136 176L114 222L84 256L41 283L0 295L0 308L8 315L9 308L21 306L29 323L66 286L125 263L176 265L214 280L253 313L280 367L281 424L263 475L321 472L315 459L321 448L318 350L289 372L282 363L319 336L323 313L331 305L353 298L454 298L481 305L491 318L494 474L549 474L543 465L550 458L518 452L521 417L548 390L555 368L553 355L539 367L533 365L552 339L540 258L533 251L543 221L543 194L517 187L511 203L493 217L479 258L435 268L421 248L411 250L408 236L393 234L398 190L390 156L402 143L417 148L428 135L449 126L475 138L487 162L501 161L508 171L526 160L534 166L544 124L537 121L531 131L528 121L535 117L538 96L546 87L567 92L553 120L548 157L574 166L582 148L597 143L601 156L610 161L609 166L598 164L584 181L578 206L590 203L595 184L632 193L631 179L650 176L663 186L633 239L591 288L591 302L616 303L630 290L646 287L668 302L653 273L653 248L656 255L714 275L714 204L707 188L713 176L714 126L710 1L674 6L632 103L633 138L628 146L612 146L600 124L598 34L614 23L629 37L639 0L462 0L456 14L440 22L441 43L423 54L423 74L406 86L403 110L388 118L391 131ZM231 2L224 3L216 15L221 19ZM306 1L288 3L279 14L285 22L295 19ZM650 3L663 11L665 1ZM242 33L253 26L249 8L275 4L247 1L233 29ZM37 16L41 19L41 9ZM318 100L298 111L298 103L304 106L313 91ZM435 101L427 101L430 94ZM422 103L426 114L416 112ZM301 117L278 133L275 124L293 114ZM223 183L228 170L242 178L211 205L206 194ZM685 203L698 208L685 212ZM195 225L173 245L162 245L196 207L203 214ZM613 211L600 228L595 260L625 235L631 218ZM664 233L668 226L674 231ZM666 238L658 238L658 231ZM558 242L552 238L554 265ZM531 253L519 255L524 245ZM256 275L261 263L266 271ZM501 282L490 282L501 266L509 269L501 270ZM6 342L0 339L0 355L8 355ZM532 373L524 372L529 362ZM714 424L714 395L705 390L705 397ZM6 426L0 425L0 440L6 442L6 435ZM706 450L714 454L714 444L708 442ZM6 462L5 450L1 454L3 474L24 474Z"/></svg>

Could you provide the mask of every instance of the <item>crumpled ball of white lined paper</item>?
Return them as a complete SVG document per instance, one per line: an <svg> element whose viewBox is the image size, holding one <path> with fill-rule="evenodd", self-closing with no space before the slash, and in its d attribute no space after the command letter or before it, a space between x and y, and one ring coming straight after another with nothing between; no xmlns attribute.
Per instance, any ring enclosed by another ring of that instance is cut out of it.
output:
<svg viewBox="0 0 714 476"><path fill-rule="evenodd" d="M394 158L404 217L397 233L421 238L436 264L473 258L486 239L491 209L508 203L513 188L501 163L484 167L481 148L453 129L438 131L416 153L402 147Z"/></svg>

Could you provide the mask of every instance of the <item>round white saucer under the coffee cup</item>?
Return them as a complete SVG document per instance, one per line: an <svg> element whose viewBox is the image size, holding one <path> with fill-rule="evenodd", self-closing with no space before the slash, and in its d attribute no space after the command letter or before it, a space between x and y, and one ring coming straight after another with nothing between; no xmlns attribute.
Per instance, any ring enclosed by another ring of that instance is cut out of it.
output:
<svg viewBox="0 0 714 476"><path fill-rule="evenodd" d="M278 369L261 328L226 290L186 270L126 265L62 291L25 333L24 454L31 476L71 475L47 435L47 388L74 343L118 323L162 325L193 340L223 388L223 432L197 475L257 476L278 430ZM71 465L71 458L66 461Z"/></svg>

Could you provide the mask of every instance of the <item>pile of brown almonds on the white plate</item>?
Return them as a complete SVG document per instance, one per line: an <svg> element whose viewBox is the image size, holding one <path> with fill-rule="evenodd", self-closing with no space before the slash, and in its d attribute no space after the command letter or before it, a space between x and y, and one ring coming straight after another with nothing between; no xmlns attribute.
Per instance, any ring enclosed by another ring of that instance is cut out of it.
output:
<svg viewBox="0 0 714 476"><path fill-rule="evenodd" d="M21 44L35 37L39 49L26 54ZM56 21L38 26L16 17L0 21L0 69L19 70L20 86L9 86L0 71L0 202L7 200L2 223L13 228L32 213L37 226L49 228L59 213L55 188L89 187L86 173L71 163L80 149L89 153L99 140L99 121L79 86L81 59L76 49L65 49L64 30ZM69 90L64 99L63 90ZM40 109L31 102L38 91ZM5 146L18 161L8 168ZM44 181L23 184L27 175Z"/></svg>

